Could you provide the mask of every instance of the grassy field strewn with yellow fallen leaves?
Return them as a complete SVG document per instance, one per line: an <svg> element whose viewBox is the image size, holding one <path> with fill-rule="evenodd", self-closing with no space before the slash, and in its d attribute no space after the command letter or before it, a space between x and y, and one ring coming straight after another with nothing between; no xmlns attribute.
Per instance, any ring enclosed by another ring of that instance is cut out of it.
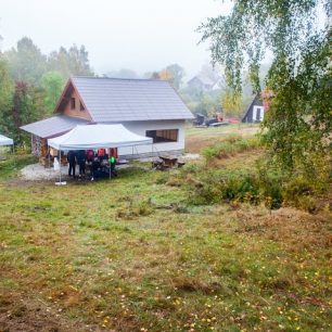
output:
<svg viewBox="0 0 332 332"><path fill-rule="evenodd" d="M188 150L238 130L210 129ZM0 331L331 330L328 210L192 205L145 164L62 188L0 171Z"/></svg>

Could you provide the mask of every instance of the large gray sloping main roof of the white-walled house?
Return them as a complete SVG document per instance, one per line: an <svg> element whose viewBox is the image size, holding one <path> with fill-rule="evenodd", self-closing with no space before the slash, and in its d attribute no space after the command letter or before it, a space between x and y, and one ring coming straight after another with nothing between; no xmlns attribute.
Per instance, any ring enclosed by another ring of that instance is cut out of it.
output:
<svg viewBox="0 0 332 332"><path fill-rule="evenodd" d="M72 81L95 123L193 118L167 81L95 77Z"/></svg>

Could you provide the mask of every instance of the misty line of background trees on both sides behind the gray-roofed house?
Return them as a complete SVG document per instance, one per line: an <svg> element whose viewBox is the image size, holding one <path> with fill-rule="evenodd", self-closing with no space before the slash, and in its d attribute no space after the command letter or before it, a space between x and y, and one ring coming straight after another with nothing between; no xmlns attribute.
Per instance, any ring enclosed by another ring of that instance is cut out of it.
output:
<svg viewBox="0 0 332 332"><path fill-rule="evenodd" d="M23 142L25 133L18 129L20 126L52 115L71 75L94 75L85 46L60 47L43 54L30 38L23 37L12 49L0 50L0 131L17 143ZM241 116L253 98L246 84L243 84L244 97L231 98L222 67L214 68L209 64L203 64L196 74L216 82L209 91L189 86L186 71L178 63L143 75L130 68L120 68L102 76L167 80L193 113L206 116L216 113Z"/></svg>

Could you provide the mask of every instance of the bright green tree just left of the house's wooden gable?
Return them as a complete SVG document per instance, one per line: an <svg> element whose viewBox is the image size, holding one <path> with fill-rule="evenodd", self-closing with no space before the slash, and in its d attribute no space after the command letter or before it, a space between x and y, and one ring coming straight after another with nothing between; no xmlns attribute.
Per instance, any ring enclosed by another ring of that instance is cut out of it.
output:
<svg viewBox="0 0 332 332"><path fill-rule="evenodd" d="M54 111L56 102L61 95L64 86L64 78L59 72L48 72L41 78L41 87L44 91L44 106L47 114Z"/></svg>

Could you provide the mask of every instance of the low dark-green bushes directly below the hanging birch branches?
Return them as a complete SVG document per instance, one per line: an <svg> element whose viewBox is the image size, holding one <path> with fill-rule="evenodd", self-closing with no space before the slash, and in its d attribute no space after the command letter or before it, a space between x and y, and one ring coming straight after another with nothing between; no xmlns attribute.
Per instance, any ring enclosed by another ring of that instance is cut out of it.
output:
<svg viewBox="0 0 332 332"><path fill-rule="evenodd" d="M317 209L315 181L301 175L289 175L272 168L267 163L257 163L255 174L222 173L214 168L192 177L187 176L190 202L194 205L209 205L221 202L265 204L270 209L282 205L294 206L314 213ZM201 175L201 176L200 176Z"/></svg>

